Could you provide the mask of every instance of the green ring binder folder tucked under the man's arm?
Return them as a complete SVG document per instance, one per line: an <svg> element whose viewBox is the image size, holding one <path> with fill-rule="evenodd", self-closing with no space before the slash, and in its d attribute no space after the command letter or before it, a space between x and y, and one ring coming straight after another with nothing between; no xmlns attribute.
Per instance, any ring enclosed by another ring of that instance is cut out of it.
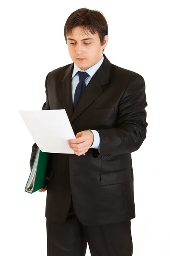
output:
<svg viewBox="0 0 170 256"><path fill-rule="evenodd" d="M31 173L26 183L25 191L32 194L45 187L45 175L48 164L48 153L37 148Z"/></svg>

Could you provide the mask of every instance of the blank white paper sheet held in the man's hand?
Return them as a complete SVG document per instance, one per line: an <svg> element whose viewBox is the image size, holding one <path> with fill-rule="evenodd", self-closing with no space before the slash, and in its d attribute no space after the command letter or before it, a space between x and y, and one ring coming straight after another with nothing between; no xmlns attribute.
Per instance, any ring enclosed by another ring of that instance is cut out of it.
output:
<svg viewBox="0 0 170 256"><path fill-rule="evenodd" d="M41 151L74 154L67 140L76 137L65 109L19 113Z"/></svg>

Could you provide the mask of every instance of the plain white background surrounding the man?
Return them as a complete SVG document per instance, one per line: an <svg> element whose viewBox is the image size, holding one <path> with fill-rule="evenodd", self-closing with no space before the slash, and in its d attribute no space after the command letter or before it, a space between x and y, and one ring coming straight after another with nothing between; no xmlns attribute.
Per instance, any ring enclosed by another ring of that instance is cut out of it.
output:
<svg viewBox="0 0 170 256"><path fill-rule="evenodd" d="M46 256L46 192L24 191L34 143L18 110L41 110L45 77L71 64L64 25L76 9L101 11L111 63L144 77L147 137L132 153L133 256L170 255L168 1L15 0L0 4L0 255ZM87 247L86 255L90 255Z"/></svg>

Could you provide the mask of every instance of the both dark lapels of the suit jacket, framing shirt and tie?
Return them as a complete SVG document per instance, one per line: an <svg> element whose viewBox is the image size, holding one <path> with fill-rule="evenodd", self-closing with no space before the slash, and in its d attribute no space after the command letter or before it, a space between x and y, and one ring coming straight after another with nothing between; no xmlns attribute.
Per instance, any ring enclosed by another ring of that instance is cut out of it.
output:
<svg viewBox="0 0 170 256"><path fill-rule="evenodd" d="M74 63L72 63L67 70L59 77L62 81L58 86L59 96L62 100L65 111L68 114L70 122L76 119L82 111L84 111L88 106L101 94L103 93L102 85L109 82L111 62L106 58L105 54L102 65L96 71L94 76L91 78L90 82L86 86L77 108L74 112L73 109L73 99L71 92L71 76L74 69Z"/></svg>

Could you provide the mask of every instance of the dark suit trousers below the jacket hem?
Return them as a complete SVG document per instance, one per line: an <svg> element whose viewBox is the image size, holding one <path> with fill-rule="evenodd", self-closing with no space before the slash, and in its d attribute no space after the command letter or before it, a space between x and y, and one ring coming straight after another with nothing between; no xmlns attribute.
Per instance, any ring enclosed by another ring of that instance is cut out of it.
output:
<svg viewBox="0 0 170 256"><path fill-rule="evenodd" d="M77 218L73 201L64 223L46 219L47 256L132 256L131 222L85 226Z"/></svg>

